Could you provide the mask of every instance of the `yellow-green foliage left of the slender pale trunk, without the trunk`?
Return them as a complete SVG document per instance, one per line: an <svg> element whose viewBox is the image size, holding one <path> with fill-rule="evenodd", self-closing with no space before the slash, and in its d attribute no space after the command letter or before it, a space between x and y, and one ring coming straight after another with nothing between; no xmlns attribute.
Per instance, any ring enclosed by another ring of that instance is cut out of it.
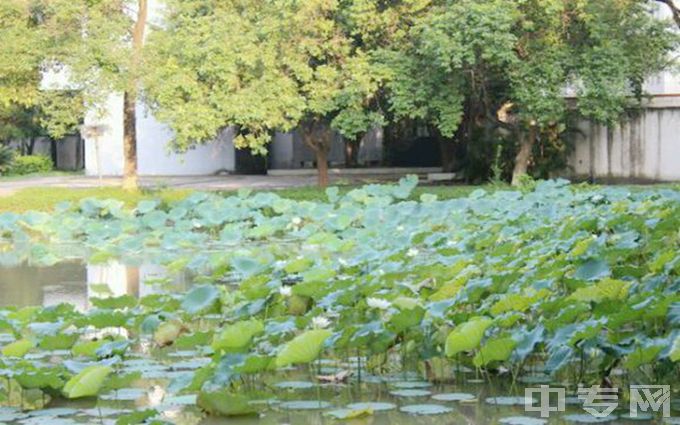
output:
<svg viewBox="0 0 680 425"><path fill-rule="evenodd" d="M100 107L109 92L129 81L128 3L3 2L0 110L33 108L33 124L54 138L74 132L87 108Z"/></svg>

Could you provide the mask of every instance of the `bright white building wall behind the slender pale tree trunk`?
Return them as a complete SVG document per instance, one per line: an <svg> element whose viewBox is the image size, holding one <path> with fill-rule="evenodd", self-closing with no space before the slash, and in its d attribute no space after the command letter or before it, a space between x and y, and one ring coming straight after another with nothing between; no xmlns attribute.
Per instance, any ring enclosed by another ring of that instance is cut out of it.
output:
<svg viewBox="0 0 680 425"><path fill-rule="evenodd" d="M100 126L102 135L85 139L85 172L87 175L120 176L123 173L123 96L109 96L98 116L85 118L86 126ZM231 130L225 130L216 141L177 154L171 151L170 128L158 122L143 104L137 105L137 161L140 175L204 175L234 169L234 146Z"/></svg>

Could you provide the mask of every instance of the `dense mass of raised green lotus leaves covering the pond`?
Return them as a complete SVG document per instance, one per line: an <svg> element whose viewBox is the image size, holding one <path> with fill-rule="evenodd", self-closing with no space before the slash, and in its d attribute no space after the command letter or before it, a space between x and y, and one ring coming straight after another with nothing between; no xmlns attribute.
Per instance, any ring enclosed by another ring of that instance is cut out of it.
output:
<svg viewBox="0 0 680 425"><path fill-rule="evenodd" d="M471 367L506 368L527 382L674 379L678 190L558 180L419 200L414 184L318 191L317 201L192 193L133 208L87 199L0 214L5 264L76 252L88 263L138 259L143 249L196 281L186 293L168 285L138 302L97 299L87 311L0 308L0 368L25 389L103 399L135 396L139 379L171 374L163 403L197 396L222 415L271 409L249 403L249 390L317 360L341 365L319 378L330 381L403 367L433 381ZM150 226L156 216L168 219ZM52 351L73 342L70 352ZM429 385L409 382L401 393L424 395L413 388ZM310 406L292 406L300 405Z"/></svg>

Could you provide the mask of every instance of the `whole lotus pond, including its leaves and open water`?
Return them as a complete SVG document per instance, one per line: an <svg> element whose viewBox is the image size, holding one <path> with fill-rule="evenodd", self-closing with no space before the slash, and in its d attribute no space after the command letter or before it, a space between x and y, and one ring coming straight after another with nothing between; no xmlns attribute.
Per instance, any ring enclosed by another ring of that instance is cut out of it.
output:
<svg viewBox="0 0 680 425"><path fill-rule="evenodd" d="M0 215L0 424L633 423L678 382L680 192L416 183Z"/></svg>

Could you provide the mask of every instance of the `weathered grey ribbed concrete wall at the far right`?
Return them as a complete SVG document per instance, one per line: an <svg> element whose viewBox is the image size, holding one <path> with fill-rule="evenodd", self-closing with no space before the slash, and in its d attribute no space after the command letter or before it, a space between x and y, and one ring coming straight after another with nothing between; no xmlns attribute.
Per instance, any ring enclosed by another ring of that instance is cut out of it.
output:
<svg viewBox="0 0 680 425"><path fill-rule="evenodd" d="M680 95L659 96L614 128L584 121L570 158L575 178L680 180Z"/></svg>

